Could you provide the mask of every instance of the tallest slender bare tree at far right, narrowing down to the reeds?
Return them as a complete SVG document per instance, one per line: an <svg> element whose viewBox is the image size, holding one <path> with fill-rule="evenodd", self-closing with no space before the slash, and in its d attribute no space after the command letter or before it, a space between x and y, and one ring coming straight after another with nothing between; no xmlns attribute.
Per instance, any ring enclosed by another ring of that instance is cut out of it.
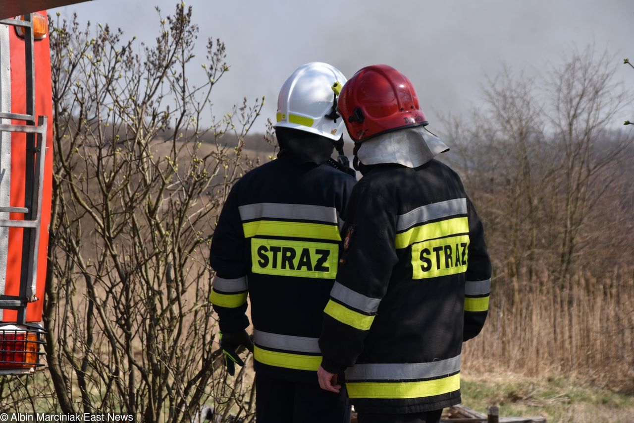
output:
<svg viewBox="0 0 634 423"><path fill-rule="evenodd" d="M610 131L627 98L614 81L611 63L607 53L595 58L594 50L586 48L553 69L548 84L553 147L561 153L555 191L561 194L556 197L562 212L560 278L571 271L590 211L623 174L613 165L631 148L629 135Z"/></svg>

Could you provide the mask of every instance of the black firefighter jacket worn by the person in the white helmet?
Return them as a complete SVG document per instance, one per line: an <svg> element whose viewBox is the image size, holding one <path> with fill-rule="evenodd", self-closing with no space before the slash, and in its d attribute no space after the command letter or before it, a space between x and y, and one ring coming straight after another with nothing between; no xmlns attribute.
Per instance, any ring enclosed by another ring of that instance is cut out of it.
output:
<svg viewBox="0 0 634 423"><path fill-rule="evenodd" d="M221 332L237 332L249 325L248 293L256 372L316 382L322 312L355 182L327 163L286 155L231 189L212 238L210 300Z"/></svg>

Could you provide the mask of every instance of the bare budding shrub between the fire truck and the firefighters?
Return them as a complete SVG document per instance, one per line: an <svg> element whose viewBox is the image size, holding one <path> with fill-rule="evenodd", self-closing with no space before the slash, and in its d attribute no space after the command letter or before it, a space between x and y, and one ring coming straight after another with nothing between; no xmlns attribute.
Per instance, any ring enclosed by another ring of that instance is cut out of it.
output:
<svg viewBox="0 0 634 423"><path fill-rule="evenodd" d="M177 422L208 403L252 419L247 373L228 377L221 365L207 257L228 190L259 163L244 142L264 98L214 116L224 44L207 41L206 82L193 86L191 7L157 11L151 45L108 25L80 29L76 16L50 23L48 371L3 380L15 391L2 398L0 384L3 409L25 411L18 397L32 396L33 411Z"/></svg>

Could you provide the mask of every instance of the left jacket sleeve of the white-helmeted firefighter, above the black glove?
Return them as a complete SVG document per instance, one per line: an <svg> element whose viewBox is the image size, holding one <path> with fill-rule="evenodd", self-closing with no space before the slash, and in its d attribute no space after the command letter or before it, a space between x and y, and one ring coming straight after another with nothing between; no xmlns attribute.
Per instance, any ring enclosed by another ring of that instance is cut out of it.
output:
<svg viewBox="0 0 634 423"><path fill-rule="evenodd" d="M209 300L219 318L221 332L238 332L249 326L247 311L247 260L238 211L238 185L224 202L211 241L209 262L216 271Z"/></svg>

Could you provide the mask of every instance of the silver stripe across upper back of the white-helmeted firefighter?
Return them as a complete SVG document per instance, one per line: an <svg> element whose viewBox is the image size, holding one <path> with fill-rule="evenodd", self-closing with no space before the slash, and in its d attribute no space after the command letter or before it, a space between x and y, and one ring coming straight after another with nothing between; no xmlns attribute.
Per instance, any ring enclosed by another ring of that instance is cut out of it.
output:
<svg viewBox="0 0 634 423"><path fill-rule="evenodd" d="M305 204L257 203L238 207L241 220L260 218L318 220L337 224L337 210L334 207L311 206Z"/></svg>

